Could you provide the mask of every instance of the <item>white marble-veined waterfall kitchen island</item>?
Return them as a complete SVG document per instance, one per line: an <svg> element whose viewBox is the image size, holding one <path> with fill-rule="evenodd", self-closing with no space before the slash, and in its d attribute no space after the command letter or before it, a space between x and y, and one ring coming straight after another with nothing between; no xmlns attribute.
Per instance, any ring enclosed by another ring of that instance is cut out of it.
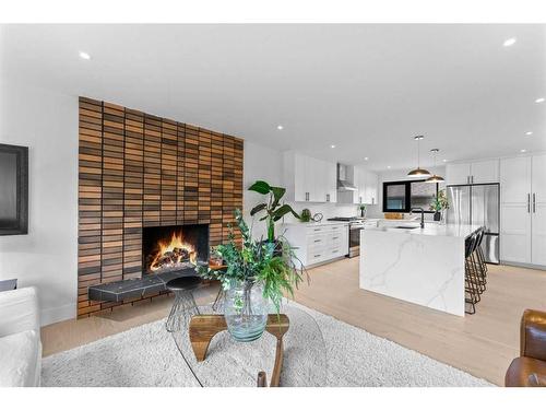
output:
<svg viewBox="0 0 546 410"><path fill-rule="evenodd" d="M464 316L464 241L479 225L401 223L360 232L360 288Z"/></svg>

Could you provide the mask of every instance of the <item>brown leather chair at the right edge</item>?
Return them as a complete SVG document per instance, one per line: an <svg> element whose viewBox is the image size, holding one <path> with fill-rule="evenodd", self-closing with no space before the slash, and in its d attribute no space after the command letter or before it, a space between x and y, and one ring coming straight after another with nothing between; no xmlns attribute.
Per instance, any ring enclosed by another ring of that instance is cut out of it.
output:
<svg viewBox="0 0 546 410"><path fill-rule="evenodd" d="M505 376L507 387L546 387L546 312L526 309L521 318L520 356Z"/></svg>

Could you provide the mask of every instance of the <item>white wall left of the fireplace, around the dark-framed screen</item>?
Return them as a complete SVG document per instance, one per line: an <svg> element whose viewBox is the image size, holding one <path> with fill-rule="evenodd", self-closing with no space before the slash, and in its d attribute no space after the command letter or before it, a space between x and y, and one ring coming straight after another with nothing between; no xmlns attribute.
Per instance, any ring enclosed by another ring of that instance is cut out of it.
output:
<svg viewBox="0 0 546 410"><path fill-rule="evenodd" d="M0 143L28 147L28 235L0 236L0 280L38 288L44 325L75 316L78 97L0 84Z"/></svg>

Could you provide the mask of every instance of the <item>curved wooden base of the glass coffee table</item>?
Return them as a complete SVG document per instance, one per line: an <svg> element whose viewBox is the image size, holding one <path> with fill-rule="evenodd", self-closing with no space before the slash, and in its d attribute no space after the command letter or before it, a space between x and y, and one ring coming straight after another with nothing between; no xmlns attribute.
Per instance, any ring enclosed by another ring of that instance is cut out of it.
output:
<svg viewBox="0 0 546 410"><path fill-rule="evenodd" d="M283 367L283 336L288 331L289 320L286 315L269 315L265 330L276 338L275 365L271 375L270 387L278 387L281 368ZM224 315L195 315L190 320L190 342L198 362L205 360L206 350L212 338L221 331L227 330ZM265 372L258 373L258 387L268 385Z"/></svg>

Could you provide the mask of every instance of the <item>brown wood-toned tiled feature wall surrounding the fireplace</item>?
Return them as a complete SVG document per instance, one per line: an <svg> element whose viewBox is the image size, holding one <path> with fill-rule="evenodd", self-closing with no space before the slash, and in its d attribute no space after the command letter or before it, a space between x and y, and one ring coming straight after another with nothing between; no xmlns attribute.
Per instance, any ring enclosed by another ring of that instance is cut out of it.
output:
<svg viewBox="0 0 546 410"><path fill-rule="evenodd" d="M144 226L207 223L217 245L242 209L241 139L80 97L79 154L78 317L120 305L90 285L142 276Z"/></svg>

